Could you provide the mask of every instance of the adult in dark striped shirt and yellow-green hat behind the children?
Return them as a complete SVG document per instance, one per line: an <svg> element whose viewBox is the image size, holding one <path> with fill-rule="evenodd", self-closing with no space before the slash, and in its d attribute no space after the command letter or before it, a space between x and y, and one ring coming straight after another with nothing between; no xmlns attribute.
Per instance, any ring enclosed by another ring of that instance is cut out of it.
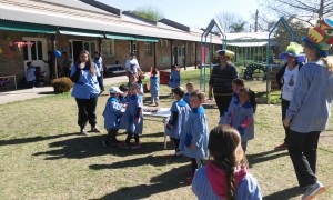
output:
<svg viewBox="0 0 333 200"><path fill-rule="evenodd" d="M220 117L228 110L232 99L232 80L238 78L236 67L230 61L234 52L229 50L220 50L219 66L212 70L210 78L209 99L212 99L214 92L215 102L218 104Z"/></svg>

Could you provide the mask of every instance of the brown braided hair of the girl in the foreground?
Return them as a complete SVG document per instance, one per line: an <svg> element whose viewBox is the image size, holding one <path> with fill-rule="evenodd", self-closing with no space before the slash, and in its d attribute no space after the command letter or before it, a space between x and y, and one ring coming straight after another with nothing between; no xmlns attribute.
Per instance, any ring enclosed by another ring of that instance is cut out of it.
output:
<svg viewBox="0 0 333 200"><path fill-rule="evenodd" d="M249 167L246 157L241 148L241 137L238 130L229 124L221 124L210 132L209 151L213 162L225 172L228 199L234 199L234 169L238 166Z"/></svg>

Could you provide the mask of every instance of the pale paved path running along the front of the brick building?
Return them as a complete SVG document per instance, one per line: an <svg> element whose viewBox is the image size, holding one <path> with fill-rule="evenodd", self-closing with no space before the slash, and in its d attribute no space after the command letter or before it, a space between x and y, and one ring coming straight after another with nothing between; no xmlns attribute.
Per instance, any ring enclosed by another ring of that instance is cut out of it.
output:
<svg viewBox="0 0 333 200"><path fill-rule="evenodd" d="M186 70L194 70L194 67L188 67ZM127 82L127 76L119 76L112 78L104 78L104 84L119 84L121 82ZM7 92L0 92L0 104L13 102L13 101L22 101L27 99L34 99L46 96L51 96L53 93L52 87L40 87L33 89L23 89L23 90L13 90Z"/></svg>

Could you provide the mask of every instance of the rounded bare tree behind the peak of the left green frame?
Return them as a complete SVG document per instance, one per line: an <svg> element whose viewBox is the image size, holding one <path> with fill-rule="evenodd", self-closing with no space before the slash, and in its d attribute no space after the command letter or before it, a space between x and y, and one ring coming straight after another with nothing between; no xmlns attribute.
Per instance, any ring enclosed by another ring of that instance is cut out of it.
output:
<svg viewBox="0 0 333 200"><path fill-rule="evenodd" d="M218 19L218 21L221 24L224 32L232 32L235 30L234 28L239 28L236 26L243 24L243 23L244 23L242 26L243 29L241 31L245 30L244 26L246 22L244 22L242 17L239 14L235 14L232 12L220 12L215 16L215 18ZM241 31L239 31L239 32L241 32ZM234 31L234 32L236 32L236 31Z"/></svg>

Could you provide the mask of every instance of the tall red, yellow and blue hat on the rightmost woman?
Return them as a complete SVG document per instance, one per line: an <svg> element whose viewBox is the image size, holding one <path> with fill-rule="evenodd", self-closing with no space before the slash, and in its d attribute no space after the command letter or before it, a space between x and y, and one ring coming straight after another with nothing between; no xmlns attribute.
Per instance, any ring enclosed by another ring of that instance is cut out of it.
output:
<svg viewBox="0 0 333 200"><path fill-rule="evenodd" d="M310 28L307 36L301 40L310 48L314 49L321 57L329 56L329 49L333 43L333 20L323 18L319 20L316 27Z"/></svg>

